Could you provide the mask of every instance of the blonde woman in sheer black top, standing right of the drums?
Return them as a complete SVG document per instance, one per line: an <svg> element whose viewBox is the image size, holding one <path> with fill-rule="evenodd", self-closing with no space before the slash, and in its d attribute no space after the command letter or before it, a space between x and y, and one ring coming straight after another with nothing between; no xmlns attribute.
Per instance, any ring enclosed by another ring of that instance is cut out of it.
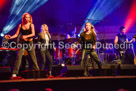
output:
<svg viewBox="0 0 136 91"><path fill-rule="evenodd" d="M85 24L85 30L80 34L79 42L82 44L81 65L84 66L84 76L89 76L87 62L85 58L89 54L90 57L97 63L100 71L102 69L101 61L95 51L96 49L96 33L93 25L90 22Z"/></svg>

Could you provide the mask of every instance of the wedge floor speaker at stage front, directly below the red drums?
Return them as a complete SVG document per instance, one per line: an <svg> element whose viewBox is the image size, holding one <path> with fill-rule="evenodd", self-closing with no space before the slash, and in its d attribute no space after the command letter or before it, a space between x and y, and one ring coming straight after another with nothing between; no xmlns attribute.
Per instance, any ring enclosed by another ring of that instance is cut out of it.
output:
<svg viewBox="0 0 136 91"><path fill-rule="evenodd" d="M66 65L60 70L66 77L83 76L84 68L80 65Z"/></svg>

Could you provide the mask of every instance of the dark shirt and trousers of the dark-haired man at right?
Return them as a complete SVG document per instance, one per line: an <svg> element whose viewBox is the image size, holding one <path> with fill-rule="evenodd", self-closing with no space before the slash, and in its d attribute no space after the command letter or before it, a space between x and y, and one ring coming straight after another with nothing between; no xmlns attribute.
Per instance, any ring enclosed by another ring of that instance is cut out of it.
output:
<svg viewBox="0 0 136 91"><path fill-rule="evenodd" d="M118 37L117 44L119 45L119 48L117 49L117 52L116 52L117 59L120 59L121 63L124 63L126 47L121 48L121 45L125 44L127 36L124 33L118 33L117 37Z"/></svg>

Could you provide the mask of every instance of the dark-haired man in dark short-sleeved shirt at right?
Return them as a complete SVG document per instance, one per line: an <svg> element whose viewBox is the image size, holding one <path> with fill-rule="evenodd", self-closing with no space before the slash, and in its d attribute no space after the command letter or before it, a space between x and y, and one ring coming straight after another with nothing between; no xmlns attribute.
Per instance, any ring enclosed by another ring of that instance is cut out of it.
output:
<svg viewBox="0 0 136 91"><path fill-rule="evenodd" d="M121 47L122 44L128 43L127 35L125 34L125 27L120 27L120 32L115 36L114 44L119 45L119 48L117 49L117 59L120 58L121 63L124 63L125 58L125 48Z"/></svg>

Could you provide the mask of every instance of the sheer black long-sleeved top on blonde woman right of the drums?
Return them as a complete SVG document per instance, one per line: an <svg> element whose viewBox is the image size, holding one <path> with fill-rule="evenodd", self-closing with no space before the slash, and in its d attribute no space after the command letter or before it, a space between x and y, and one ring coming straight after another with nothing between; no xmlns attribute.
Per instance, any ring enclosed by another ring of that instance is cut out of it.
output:
<svg viewBox="0 0 136 91"><path fill-rule="evenodd" d="M94 32L91 32L90 34L82 32L80 34L79 42L82 44L83 49L92 49L93 45L96 43L96 34Z"/></svg>

